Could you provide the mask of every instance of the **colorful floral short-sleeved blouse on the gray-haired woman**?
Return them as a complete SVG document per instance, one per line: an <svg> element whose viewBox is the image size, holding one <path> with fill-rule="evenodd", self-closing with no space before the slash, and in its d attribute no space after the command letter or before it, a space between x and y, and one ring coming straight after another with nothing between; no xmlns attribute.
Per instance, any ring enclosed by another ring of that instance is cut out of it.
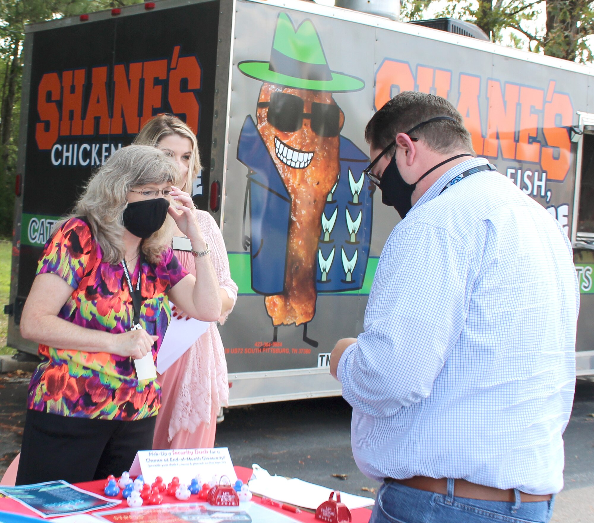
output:
<svg viewBox="0 0 594 523"><path fill-rule="evenodd" d="M137 263L131 278L134 288L139 270ZM130 329L134 307L124 269L121 264L102 261L101 248L83 220L68 220L48 241L37 266L37 274L43 273L58 275L74 289L58 317L114 334ZM187 274L171 249L159 264L143 263L140 323L149 334L159 336L153 345L153 360L171 316L166 294ZM148 418L159 411L159 383L155 379L139 381L131 358L43 344L39 355L42 363L31 377L29 409L125 421Z"/></svg>

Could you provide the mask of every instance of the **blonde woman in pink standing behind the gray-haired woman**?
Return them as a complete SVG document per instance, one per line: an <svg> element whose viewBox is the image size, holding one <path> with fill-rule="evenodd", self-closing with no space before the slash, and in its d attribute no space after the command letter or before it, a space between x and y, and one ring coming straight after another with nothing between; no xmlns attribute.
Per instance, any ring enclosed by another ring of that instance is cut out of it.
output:
<svg viewBox="0 0 594 523"><path fill-rule="evenodd" d="M179 182L184 193L191 193L192 182L201 171L198 143L191 129L179 118L159 115L151 119L134 143L149 144L163 150L178 164ZM194 207L191 198L179 197L184 206ZM218 321L225 320L237 300L237 285L231 279L225 242L217 223L205 211L194 209L204 240L211 249L217 275L221 308ZM178 229L176 236L184 236ZM184 250L174 250L180 263L194 272L194 258ZM173 303L176 303L173 300ZM179 304L181 305L181 304ZM178 307L174 316L187 311ZM229 385L223 342L216 323L160 376L162 409L154 431L154 449L208 448L214 445L216 418L221 407L228 405Z"/></svg>

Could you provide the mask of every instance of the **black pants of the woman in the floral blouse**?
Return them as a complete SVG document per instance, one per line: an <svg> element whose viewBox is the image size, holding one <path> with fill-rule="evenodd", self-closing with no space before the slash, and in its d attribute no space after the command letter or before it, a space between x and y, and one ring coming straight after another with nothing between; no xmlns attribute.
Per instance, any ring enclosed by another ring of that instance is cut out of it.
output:
<svg viewBox="0 0 594 523"><path fill-rule="evenodd" d="M153 448L156 416L138 421L68 418L27 410L17 485L116 477Z"/></svg>

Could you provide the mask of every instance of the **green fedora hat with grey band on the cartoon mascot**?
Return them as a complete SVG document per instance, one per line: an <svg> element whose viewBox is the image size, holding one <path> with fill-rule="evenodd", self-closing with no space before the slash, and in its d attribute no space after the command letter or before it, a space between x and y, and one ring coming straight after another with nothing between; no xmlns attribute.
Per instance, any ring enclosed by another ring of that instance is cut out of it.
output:
<svg viewBox="0 0 594 523"><path fill-rule="evenodd" d="M244 61L238 67L256 80L295 89L347 93L365 87L361 78L330 70L311 20L304 20L295 30L284 12L276 23L270 61Z"/></svg>

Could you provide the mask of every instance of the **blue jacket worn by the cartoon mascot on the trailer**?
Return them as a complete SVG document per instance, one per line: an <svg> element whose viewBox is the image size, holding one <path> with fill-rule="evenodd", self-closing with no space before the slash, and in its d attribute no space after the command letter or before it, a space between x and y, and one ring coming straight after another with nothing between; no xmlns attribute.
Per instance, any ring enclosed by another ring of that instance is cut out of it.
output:
<svg viewBox="0 0 594 523"><path fill-rule="evenodd" d="M365 278L371 241L371 218L373 212L372 188L363 179L361 193L355 198L353 182L364 177L363 169L368 157L352 141L340 137L340 175L333 193L328 196L324 216L331 220L337 212L334 226L325 240L324 230L316 253L317 291L343 292L360 289ZM249 219L251 224L251 276L252 289L259 294L281 294L285 288L285 269L290 223L290 196L270 153L258 132L251 116L245 118L239 136L237 159L248 167ZM349 174L350 171L350 174ZM352 178L352 179L349 179ZM356 192L356 188L355 188ZM358 201L354 201L357 199ZM361 222L352 242L347 216ZM323 278L319 252L324 260L333 257ZM355 267L347 275L343 263L357 256ZM332 254L334 253L334 254Z"/></svg>

